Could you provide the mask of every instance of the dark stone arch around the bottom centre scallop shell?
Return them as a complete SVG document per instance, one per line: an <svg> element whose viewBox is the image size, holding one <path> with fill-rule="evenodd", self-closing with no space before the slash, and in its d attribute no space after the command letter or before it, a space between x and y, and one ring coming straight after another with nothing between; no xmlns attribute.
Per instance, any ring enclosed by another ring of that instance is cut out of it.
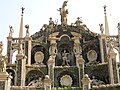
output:
<svg viewBox="0 0 120 90"><path fill-rule="evenodd" d="M57 86L61 87L60 80L65 75L68 75L68 76L70 76L72 78L72 85L71 86L73 86L73 87L78 86L77 85L78 80L77 80L76 76L74 75L74 73L72 73L71 71L68 71L68 70L62 70L57 74L57 76L56 76L56 78L57 78L57 82L56 82Z"/></svg>

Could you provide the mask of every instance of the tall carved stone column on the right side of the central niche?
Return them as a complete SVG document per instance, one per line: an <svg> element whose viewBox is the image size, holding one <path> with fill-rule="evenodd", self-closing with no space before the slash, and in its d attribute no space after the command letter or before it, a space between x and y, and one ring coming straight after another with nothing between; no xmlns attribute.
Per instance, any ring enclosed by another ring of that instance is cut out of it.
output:
<svg viewBox="0 0 120 90"><path fill-rule="evenodd" d="M82 87L81 80L84 75L84 59L82 58L82 48L80 44L81 35L75 32L72 32L72 35L74 36L74 53L76 57L76 66L79 70L79 86Z"/></svg>

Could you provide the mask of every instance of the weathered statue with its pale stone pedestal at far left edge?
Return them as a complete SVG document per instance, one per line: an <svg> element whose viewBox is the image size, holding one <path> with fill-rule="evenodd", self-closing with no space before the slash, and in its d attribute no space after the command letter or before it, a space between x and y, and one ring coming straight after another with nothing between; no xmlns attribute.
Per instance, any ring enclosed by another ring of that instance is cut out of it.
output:
<svg viewBox="0 0 120 90"><path fill-rule="evenodd" d="M0 42L0 90L10 90L11 75L6 72L8 58L2 55L3 44Z"/></svg>

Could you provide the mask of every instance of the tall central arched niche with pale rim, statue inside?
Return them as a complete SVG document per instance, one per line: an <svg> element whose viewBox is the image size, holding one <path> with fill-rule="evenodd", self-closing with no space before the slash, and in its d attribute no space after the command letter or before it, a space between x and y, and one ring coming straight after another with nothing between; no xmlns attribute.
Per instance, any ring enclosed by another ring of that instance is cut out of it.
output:
<svg viewBox="0 0 120 90"><path fill-rule="evenodd" d="M55 58L56 66L75 66L75 55L73 52L74 42L66 34L62 35L57 41L57 55Z"/></svg>

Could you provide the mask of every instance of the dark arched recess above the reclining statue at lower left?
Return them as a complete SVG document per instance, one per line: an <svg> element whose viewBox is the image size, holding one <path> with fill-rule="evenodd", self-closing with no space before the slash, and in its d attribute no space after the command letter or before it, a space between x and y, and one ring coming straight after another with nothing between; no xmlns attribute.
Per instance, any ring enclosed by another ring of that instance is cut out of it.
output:
<svg viewBox="0 0 120 90"><path fill-rule="evenodd" d="M45 74L40 70L31 70L26 74L25 85L27 86L31 81L38 80L39 78L43 82Z"/></svg>

